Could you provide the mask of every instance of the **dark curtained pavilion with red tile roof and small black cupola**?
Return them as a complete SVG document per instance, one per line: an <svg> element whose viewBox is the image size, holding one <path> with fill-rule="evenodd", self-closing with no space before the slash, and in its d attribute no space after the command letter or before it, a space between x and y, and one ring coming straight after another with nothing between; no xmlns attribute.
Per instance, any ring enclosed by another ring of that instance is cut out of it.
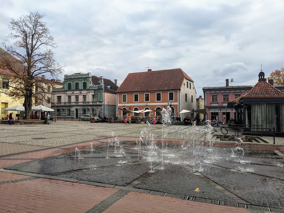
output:
<svg viewBox="0 0 284 213"><path fill-rule="evenodd" d="M234 108L237 122L246 131L284 132L284 93L269 84L264 78L264 72L259 73L259 81L245 95L228 103L228 108Z"/></svg>

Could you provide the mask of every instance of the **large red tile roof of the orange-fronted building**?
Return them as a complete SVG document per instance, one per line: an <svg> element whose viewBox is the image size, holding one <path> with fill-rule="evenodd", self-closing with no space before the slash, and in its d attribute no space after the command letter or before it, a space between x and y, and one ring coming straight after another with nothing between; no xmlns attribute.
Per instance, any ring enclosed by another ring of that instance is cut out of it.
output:
<svg viewBox="0 0 284 213"><path fill-rule="evenodd" d="M181 68L129 73L117 92L177 90L184 78L193 82Z"/></svg>

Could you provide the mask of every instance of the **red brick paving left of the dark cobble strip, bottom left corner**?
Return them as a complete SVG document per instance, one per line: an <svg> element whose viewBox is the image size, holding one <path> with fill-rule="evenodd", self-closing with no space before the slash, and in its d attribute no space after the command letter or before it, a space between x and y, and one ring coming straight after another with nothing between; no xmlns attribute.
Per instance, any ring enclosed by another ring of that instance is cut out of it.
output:
<svg viewBox="0 0 284 213"><path fill-rule="evenodd" d="M86 212L116 189L50 179L0 185L0 212Z"/></svg>

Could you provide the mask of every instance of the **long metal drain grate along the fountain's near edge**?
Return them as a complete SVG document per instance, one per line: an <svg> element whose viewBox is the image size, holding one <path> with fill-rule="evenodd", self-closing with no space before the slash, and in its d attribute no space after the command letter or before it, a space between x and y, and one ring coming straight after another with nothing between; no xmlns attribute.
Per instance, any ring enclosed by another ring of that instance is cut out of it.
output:
<svg viewBox="0 0 284 213"><path fill-rule="evenodd" d="M9 170L9 169L1 169L0 172L1 171L9 172L9 173L15 173L15 174L22 174L22 175L33 174L33 173L29 173L29 172L14 171L14 170ZM31 176L31 175L29 175L29 176ZM33 174L33 176L36 176L36 174ZM53 176L49 176L49 175L46 175L46 178L59 180L58 177L53 177ZM256 206L256 205L251 205L251 204L242 204L242 203L228 202L228 201L222 201L222 200L212 200L212 199L209 199L209 198L198 198L198 197L193 197L193 196L185 196L185 195L180 195L180 194L172 194L172 193L159 192L159 191L154 191L154 190L139 189L139 188L133 188L133 187L129 187L129 186L104 184L104 183L86 181L86 180L77 180L77 179L72 179L72 178L60 178L60 179L62 179L64 181L76 182L76 183L80 183L80 184L88 184L88 185L93 185L93 186L122 189L122 190L131 191L131 192L153 194L153 195L177 198L177 199L182 199L182 200L190 200L190 201L197 201L197 202L203 202L203 203L217 204L217 205L222 205L222 206L246 208L246 209L265 211L265 212L284 213L284 209L274 208L274 207Z"/></svg>

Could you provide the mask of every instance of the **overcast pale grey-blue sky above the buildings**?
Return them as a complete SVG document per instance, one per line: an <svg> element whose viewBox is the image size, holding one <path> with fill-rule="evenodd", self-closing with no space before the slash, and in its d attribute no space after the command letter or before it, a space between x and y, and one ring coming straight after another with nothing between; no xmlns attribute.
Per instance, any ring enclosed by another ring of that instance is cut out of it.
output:
<svg viewBox="0 0 284 213"><path fill-rule="evenodd" d="M118 79L128 73L182 68L202 87L254 85L284 66L284 1L0 0L0 41L10 18L45 13L57 62ZM63 80L64 76L59 79ZM149 82L157 83L157 82Z"/></svg>

